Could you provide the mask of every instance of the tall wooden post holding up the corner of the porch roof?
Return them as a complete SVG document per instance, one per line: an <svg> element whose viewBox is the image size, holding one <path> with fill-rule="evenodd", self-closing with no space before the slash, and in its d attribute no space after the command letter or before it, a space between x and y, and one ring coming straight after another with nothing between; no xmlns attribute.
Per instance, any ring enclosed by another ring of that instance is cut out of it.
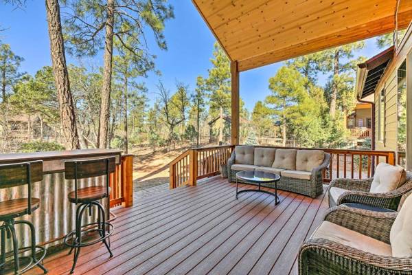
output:
<svg viewBox="0 0 412 275"><path fill-rule="evenodd" d="M231 144L239 144L239 71L238 61L231 61Z"/></svg>

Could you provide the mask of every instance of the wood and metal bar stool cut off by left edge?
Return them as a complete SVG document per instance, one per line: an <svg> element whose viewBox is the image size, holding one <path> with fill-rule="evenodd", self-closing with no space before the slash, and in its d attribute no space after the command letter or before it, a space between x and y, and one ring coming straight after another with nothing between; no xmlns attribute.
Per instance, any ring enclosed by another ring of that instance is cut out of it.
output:
<svg viewBox="0 0 412 275"><path fill-rule="evenodd" d="M14 274L22 274L34 266L40 267L44 273L47 270L42 262L47 250L36 245L36 231L33 223L26 220L15 221L17 217L32 214L40 206L40 199L32 197L32 182L43 180L43 162L23 162L18 164L0 165L0 188L10 188L14 186L27 185L27 198L10 199L0 202L0 272L3 274L4 267L8 264L5 260L13 256ZM14 225L25 224L30 228L31 245L19 248L19 240L16 237ZM12 238L13 251L5 252L5 239ZM30 256L20 256L25 252L31 252ZM40 254L39 257L36 255ZM28 259L25 267L20 266L21 259Z"/></svg>

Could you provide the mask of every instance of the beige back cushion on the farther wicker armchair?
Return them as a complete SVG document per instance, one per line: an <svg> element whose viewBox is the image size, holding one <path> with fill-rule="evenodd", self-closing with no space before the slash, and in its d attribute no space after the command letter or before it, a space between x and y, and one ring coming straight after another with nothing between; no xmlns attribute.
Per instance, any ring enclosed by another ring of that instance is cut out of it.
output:
<svg viewBox="0 0 412 275"><path fill-rule="evenodd" d="M407 180L404 168L381 162L376 166L374 180L371 184L371 193L383 193L396 190Z"/></svg>

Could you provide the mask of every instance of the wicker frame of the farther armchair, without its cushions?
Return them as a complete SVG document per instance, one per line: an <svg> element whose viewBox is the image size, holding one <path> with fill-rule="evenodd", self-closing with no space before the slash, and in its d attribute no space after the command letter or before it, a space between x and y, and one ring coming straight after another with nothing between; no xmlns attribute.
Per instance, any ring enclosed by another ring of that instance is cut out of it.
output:
<svg viewBox="0 0 412 275"><path fill-rule="evenodd" d="M391 192L372 193L369 192L373 177L369 179L334 179L328 188L329 206L339 206L342 203L363 203L369 206L398 210L402 196L412 190L412 173L407 172L407 181ZM332 187L342 188L347 191L339 195L334 201L330 194Z"/></svg>

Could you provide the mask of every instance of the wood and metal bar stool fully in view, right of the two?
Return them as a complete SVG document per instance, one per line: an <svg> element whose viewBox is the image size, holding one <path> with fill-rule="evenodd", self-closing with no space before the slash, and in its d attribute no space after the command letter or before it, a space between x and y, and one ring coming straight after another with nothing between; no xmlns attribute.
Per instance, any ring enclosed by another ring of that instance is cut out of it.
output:
<svg viewBox="0 0 412 275"><path fill-rule="evenodd" d="M67 234L64 239L65 244L71 248L69 254L74 250L73 266L70 273L74 272L80 248L84 246L102 242L106 245L110 256L113 256L110 250L109 237L113 233L114 226L106 221L106 211L98 200L109 197L108 177L114 171L115 157L65 162L65 179L74 179L75 188L74 191L69 192L68 199L71 203L76 203L77 205L76 229ZM78 188L78 179L100 176L106 176L105 185ZM89 208L89 215L91 216L93 206L98 209L98 221L82 225L84 211ZM98 239L82 241L83 236L93 232L98 232L100 235Z"/></svg>

